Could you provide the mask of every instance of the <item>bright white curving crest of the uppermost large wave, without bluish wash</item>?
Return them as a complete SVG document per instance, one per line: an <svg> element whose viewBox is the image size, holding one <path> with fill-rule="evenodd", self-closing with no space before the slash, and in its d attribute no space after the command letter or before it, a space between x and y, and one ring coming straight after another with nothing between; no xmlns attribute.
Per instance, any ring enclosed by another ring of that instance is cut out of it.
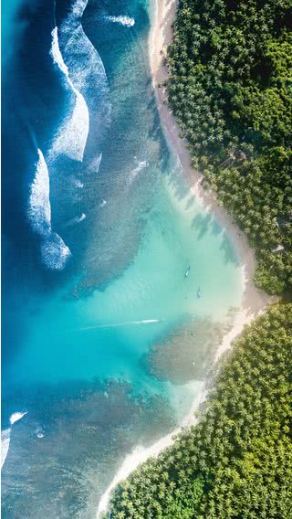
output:
<svg viewBox="0 0 292 519"><path fill-rule="evenodd" d="M65 75L68 86L76 97L72 115L66 117L52 145L51 155L66 154L68 157L82 162L89 134L89 109L82 94L75 88L70 79L68 67L62 57L57 37L57 27L52 30L51 56L58 69Z"/></svg>

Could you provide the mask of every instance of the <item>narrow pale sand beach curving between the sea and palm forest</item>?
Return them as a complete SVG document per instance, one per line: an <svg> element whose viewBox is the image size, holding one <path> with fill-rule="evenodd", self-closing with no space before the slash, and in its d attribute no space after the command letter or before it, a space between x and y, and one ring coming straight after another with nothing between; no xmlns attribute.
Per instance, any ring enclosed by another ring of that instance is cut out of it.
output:
<svg viewBox="0 0 292 519"><path fill-rule="evenodd" d="M218 362L221 355L231 348L235 338L242 333L246 324L250 323L256 315L264 312L268 303L272 302L271 296L264 291L256 289L253 279L255 274L255 250L251 249L245 234L233 222L224 207L219 206L216 201L214 192L210 189L203 189L203 174L195 171L191 166L191 157L187 145L180 137L180 128L175 121L172 112L166 104L166 89L159 87L165 79L168 78L168 71L163 65L163 51L172 40L172 24L175 20L177 8L177 0L151 0L151 32L149 37L149 56L151 65L152 86L155 92L157 109L159 111L162 124L162 131L165 136L166 143L175 154L182 165L183 175L190 186L190 192L203 205L205 210L214 217L224 229L228 238L231 239L235 247L237 256L240 260L243 280L243 300L241 307L235 314L235 320L232 329L224 335L222 344L217 349L214 357L214 368L218 368ZM125 480L132 471L137 469L141 463L147 461L151 457L158 456L162 450L167 449L174 442L175 436L182 432L183 428L195 425L198 418L194 413L203 404L207 397L207 383L205 381L203 389L194 397L193 405L189 414L183 419L181 425L172 430L171 433L157 440L148 448L137 446L132 452L126 456L120 466L120 470L116 473L114 479L110 483L105 493L102 494L96 518L99 519L100 514L107 511L110 494L117 484Z"/></svg>

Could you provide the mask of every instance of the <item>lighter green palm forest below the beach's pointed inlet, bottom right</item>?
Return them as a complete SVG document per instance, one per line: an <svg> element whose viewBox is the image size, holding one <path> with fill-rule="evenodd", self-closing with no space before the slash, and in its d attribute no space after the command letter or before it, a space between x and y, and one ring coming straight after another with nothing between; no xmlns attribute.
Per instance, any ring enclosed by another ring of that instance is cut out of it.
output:
<svg viewBox="0 0 292 519"><path fill-rule="evenodd" d="M111 519L292 518L292 304L236 341L199 424L116 489Z"/></svg>

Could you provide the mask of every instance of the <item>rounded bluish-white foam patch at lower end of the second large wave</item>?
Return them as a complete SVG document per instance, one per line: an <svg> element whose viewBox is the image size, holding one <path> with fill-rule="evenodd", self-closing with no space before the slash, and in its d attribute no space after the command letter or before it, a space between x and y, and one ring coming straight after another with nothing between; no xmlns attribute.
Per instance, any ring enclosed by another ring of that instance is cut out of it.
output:
<svg viewBox="0 0 292 519"><path fill-rule="evenodd" d="M48 269L63 270L71 252L63 239L53 232L42 243L41 256Z"/></svg>

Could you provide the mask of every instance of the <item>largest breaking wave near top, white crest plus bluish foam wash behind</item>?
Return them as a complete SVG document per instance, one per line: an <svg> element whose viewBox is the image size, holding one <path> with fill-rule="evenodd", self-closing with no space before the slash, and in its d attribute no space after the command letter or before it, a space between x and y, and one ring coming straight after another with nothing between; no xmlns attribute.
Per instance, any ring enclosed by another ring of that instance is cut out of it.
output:
<svg viewBox="0 0 292 519"><path fill-rule="evenodd" d="M99 53L85 35L80 23L87 3L88 0L77 0L66 20L52 31L50 54L75 96L75 107L73 113L65 117L57 132L52 144L51 159L59 154L66 154L79 162L83 161L89 135L89 107L85 99L89 98L88 103L93 103L95 113L110 120L106 71ZM89 96L86 95L88 90ZM97 99L91 99L93 91L96 92L93 97Z"/></svg>

